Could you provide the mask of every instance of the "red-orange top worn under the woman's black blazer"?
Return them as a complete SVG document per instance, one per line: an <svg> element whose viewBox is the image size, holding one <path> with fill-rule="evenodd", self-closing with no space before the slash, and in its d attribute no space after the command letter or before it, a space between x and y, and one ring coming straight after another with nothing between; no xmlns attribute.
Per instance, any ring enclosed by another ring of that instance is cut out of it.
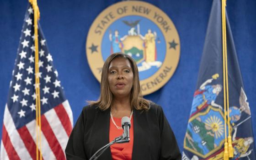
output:
<svg viewBox="0 0 256 160"><path fill-rule="evenodd" d="M117 126L121 127L122 118L113 117ZM110 118L109 125L109 141L111 142L116 137L119 137L123 134L123 129L117 129ZM130 142L123 144L113 144L110 146L112 160L132 160L133 154L133 116L131 118L131 128L129 131Z"/></svg>

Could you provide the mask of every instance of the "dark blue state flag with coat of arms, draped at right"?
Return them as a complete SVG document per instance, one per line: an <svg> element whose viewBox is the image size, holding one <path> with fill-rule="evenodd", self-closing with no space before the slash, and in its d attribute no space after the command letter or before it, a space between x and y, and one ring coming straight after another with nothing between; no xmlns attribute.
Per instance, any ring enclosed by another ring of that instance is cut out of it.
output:
<svg viewBox="0 0 256 160"><path fill-rule="evenodd" d="M256 160L251 111L226 15L229 115L234 158ZM221 0L213 0L182 160L223 160L224 127ZM228 134L228 128L226 128Z"/></svg>

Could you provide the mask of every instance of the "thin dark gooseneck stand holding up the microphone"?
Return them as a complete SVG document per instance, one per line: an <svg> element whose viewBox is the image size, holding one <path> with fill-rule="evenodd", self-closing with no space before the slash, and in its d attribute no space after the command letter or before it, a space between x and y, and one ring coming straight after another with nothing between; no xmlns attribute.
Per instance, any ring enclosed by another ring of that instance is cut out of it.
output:
<svg viewBox="0 0 256 160"><path fill-rule="evenodd" d="M90 160L97 160L98 157L100 157L102 155L102 153L108 148L110 147L112 144L122 144L122 143L127 143L129 142L130 139L128 137L123 137L120 136L120 137L117 137L115 138L112 142L106 144L105 146L101 147L99 150L97 150L97 152L91 156Z"/></svg>

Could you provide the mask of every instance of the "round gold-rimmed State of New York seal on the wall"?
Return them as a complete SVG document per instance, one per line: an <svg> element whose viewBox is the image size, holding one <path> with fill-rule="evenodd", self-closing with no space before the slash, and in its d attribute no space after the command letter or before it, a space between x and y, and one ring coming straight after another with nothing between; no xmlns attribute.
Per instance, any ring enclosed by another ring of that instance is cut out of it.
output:
<svg viewBox="0 0 256 160"><path fill-rule="evenodd" d="M92 23L86 40L92 73L101 80L107 57L116 52L137 62L143 95L160 89L180 59L180 38L171 19L142 1L123 1L107 7Z"/></svg>

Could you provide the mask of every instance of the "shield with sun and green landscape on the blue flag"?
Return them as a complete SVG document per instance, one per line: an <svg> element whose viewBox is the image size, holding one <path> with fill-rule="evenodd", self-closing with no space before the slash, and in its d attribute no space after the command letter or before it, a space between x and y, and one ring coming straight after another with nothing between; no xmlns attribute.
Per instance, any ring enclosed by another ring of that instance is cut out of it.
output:
<svg viewBox="0 0 256 160"><path fill-rule="evenodd" d="M224 114L219 108L209 105L189 119L184 148L195 155L207 158L221 149L224 140Z"/></svg>

